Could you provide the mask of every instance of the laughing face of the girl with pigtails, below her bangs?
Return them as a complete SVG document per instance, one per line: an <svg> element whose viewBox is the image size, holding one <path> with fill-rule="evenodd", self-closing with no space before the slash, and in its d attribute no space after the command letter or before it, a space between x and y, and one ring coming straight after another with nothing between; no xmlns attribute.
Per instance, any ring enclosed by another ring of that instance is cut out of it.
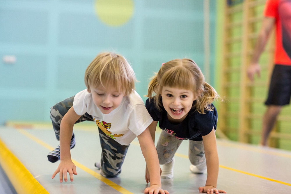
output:
<svg viewBox="0 0 291 194"><path fill-rule="evenodd" d="M196 100L192 90L168 86L163 86L161 95L171 122L182 122L192 108L193 101Z"/></svg>

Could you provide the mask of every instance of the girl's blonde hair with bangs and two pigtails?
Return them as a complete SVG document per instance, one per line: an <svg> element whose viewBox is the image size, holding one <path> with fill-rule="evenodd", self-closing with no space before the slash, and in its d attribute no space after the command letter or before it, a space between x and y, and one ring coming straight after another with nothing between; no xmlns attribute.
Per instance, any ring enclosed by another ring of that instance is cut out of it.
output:
<svg viewBox="0 0 291 194"><path fill-rule="evenodd" d="M191 59L175 59L164 63L158 73L152 77L149 83L148 95L153 100L155 106L161 110L163 106L161 101L161 92L163 86L183 88L191 90L196 97L196 103L192 108L196 108L201 114L205 114L205 110L211 111L213 107L210 104L219 98L219 95L208 83L198 67Z"/></svg>

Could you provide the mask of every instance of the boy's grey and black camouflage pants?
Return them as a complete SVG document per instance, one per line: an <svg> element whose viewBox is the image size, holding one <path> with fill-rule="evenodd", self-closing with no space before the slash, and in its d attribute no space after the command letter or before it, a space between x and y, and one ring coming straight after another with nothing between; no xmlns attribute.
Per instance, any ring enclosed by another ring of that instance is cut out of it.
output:
<svg viewBox="0 0 291 194"><path fill-rule="evenodd" d="M73 106L73 102L74 96L57 103L51 108L50 117L57 140L60 140L61 120L63 119L63 116L68 112L68 110ZM85 113L77 120L76 123L87 120L94 122L93 117L88 113ZM100 129L99 138L102 148L100 168L102 170L102 175L104 175L105 177L116 177L121 172L121 166L125 159L125 155L129 145L120 145L112 138L106 136Z"/></svg>

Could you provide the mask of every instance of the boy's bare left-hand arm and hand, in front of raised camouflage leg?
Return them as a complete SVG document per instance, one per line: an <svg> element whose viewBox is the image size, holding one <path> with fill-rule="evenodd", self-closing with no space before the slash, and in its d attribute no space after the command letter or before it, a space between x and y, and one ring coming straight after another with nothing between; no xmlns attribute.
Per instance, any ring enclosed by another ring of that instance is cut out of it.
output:
<svg viewBox="0 0 291 194"><path fill-rule="evenodd" d="M71 152L70 152L70 142L73 133L73 127L75 122L80 118L80 115L74 111L74 108L71 107L69 111L64 115L61 126L60 126L60 152L61 152L61 162L58 165L58 168L52 175L52 179L56 174L60 175L60 182L63 182L63 176L65 182L67 179L67 172L69 172L70 180L73 181L73 174L77 175L76 166L72 162Z"/></svg>

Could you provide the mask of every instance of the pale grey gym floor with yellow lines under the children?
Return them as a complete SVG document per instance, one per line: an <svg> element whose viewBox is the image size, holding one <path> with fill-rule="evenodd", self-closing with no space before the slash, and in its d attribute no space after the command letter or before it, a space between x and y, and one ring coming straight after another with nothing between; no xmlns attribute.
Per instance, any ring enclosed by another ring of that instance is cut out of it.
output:
<svg viewBox="0 0 291 194"><path fill-rule="evenodd" d="M27 187L28 193L130 194L143 193L149 186L145 182L145 160L137 138L128 149L122 173L107 179L94 167L101 155L98 130L90 125L77 124L74 133L76 146L71 150L71 155L78 175L74 175L73 182L60 183L58 175L51 179L59 162L50 163L47 160L48 152L59 143L52 127L25 124L0 127L1 166L12 179L10 181L17 193L25 193L24 188ZM157 129L156 137L159 133L160 129ZM220 164L218 189L230 194L290 192L290 151L221 139L217 139L217 147ZM12 163L6 152L20 162ZM18 165L24 168L18 168ZM190 165L188 140L185 140L175 154L174 178L162 179L162 187L170 193L199 193L198 187L205 185L207 174L192 174ZM29 175L31 178L27 178Z"/></svg>

